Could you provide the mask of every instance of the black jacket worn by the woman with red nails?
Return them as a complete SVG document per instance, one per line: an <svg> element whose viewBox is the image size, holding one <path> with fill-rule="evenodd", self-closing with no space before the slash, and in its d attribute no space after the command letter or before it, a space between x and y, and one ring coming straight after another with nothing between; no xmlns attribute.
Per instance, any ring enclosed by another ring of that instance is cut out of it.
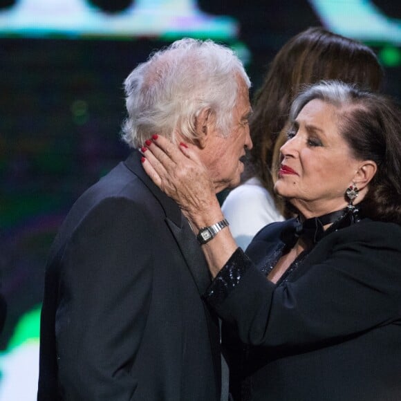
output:
<svg viewBox="0 0 401 401"><path fill-rule="evenodd" d="M208 290L229 333L235 399L401 400L401 227L362 218L334 230L274 285L259 267L294 230L265 227L227 261L246 266L235 286L218 300L221 284Z"/></svg>

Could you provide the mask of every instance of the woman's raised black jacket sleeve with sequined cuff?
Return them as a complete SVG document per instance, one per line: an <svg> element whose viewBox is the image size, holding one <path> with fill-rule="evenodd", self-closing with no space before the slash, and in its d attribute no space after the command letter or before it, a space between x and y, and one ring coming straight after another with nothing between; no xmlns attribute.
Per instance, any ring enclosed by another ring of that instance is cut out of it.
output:
<svg viewBox="0 0 401 401"><path fill-rule="evenodd" d="M245 344L338 341L400 324L400 266L401 227L362 221L322 239L278 286L237 249L205 299Z"/></svg>

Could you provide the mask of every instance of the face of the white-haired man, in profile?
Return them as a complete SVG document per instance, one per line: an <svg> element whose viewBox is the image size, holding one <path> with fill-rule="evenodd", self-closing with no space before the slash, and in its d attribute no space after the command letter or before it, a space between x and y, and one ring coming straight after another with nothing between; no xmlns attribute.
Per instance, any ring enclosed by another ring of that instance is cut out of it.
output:
<svg viewBox="0 0 401 401"><path fill-rule="evenodd" d="M224 138L221 132L213 129L205 148L201 151L203 163L209 170L216 193L227 187L239 185L245 149L252 149L252 140L248 125L251 113L249 91L242 78L237 77L239 92L232 110L232 128Z"/></svg>

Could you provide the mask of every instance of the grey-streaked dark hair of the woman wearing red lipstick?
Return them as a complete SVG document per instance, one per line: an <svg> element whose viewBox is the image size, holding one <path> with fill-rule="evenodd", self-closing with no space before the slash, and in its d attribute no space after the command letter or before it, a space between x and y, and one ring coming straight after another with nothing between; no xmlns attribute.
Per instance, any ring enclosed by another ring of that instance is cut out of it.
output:
<svg viewBox="0 0 401 401"><path fill-rule="evenodd" d="M344 82L320 82L294 100L290 122L311 100L336 108L339 133L360 160L373 160L377 171L363 201L363 214L401 224L401 109L390 97L362 91ZM345 193L346 188L344 188Z"/></svg>

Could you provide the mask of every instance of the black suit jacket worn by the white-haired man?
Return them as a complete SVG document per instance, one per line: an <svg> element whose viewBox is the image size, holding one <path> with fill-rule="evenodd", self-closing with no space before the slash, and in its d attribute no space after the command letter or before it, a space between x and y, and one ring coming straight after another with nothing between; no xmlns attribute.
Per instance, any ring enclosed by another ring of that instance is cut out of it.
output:
<svg viewBox="0 0 401 401"><path fill-rule="evenodd" d="M46 268L39 401L220 399L203 253L134 151L75 203Z"/></svg>

